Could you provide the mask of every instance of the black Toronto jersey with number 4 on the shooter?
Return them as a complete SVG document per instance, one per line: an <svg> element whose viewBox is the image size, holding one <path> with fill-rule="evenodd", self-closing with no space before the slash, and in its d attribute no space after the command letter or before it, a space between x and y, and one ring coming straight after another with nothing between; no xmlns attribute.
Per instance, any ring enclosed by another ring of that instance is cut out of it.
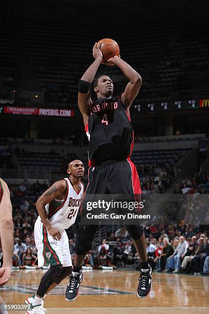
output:
<svg viewBox="0 0 209 314"><path fill-rule="evenodd" d="M133 150L134 132L119 96L99 98L91 105L86 126L89 165L127 159Z"/></svg>

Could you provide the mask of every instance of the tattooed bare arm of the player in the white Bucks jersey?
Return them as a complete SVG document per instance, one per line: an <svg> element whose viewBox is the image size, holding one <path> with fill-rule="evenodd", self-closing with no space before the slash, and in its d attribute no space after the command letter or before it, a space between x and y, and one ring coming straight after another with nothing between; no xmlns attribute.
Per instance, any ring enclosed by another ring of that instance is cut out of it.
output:
<svg viewBox="0 0 209 314"><path fill-rule="evenodd" d="M45 209L45 206L50 203L52 200L56 199L58 195L63 194L66 190L66 181L59 180L55 182L48 190L46 190L42 195L40 195L39 199L36 202L36 208L38 214L40 216L41 221L47 228L49 234L52 236L54 240L61 239L61 233L56 229L53 228Z"/></svg>

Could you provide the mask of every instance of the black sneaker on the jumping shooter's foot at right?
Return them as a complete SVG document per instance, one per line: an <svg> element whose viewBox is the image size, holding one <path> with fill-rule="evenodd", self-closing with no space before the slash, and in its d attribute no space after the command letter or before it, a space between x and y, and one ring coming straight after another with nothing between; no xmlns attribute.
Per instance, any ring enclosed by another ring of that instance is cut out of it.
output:
<svg viewBox="0 0 209 314"><path fill-rule="evenodd" d="M152 268L151 266L147 271L141 271L139 276L139 284L137 288L137 296L145 298L149 295L152 287Z"/></svg>

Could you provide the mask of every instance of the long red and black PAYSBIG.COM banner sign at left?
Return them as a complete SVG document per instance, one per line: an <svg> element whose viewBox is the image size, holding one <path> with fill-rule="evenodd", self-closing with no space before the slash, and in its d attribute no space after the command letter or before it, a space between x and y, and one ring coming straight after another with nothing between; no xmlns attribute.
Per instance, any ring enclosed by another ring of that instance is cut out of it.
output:
<svg viewBox="0 0 209 314"><path fill-rule="evenodd" d="M4 107L4 113L8 114L27 114L44 116L74 116L72 109L50 109L50 108L26 108L26 107Z"/></svg>

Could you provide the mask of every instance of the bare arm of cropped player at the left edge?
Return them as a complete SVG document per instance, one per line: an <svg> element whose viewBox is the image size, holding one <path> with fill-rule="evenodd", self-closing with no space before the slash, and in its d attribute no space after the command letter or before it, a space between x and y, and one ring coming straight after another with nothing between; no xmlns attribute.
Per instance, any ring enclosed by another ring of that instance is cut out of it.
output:
<svg viewBox="0 0 209 314"><path fill-rule="evenodd" d="M1 183L3 197L0 204L0 239L3 251L3 266L0 268L0 285L4 285L8 282L11 274L14 239L10 192L7 184L2 179Z"/></svg>

